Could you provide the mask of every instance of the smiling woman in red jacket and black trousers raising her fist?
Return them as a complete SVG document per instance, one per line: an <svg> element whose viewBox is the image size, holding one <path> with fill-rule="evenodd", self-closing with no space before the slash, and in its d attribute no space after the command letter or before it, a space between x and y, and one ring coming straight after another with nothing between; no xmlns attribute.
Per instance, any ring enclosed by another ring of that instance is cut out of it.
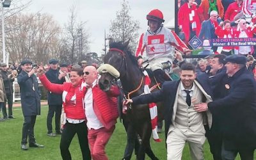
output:
<svg viewBox="0 0 256 160"><path fill-rule="evenodd" d="M86 88L81 87L83 81L83 69L72 68L70 73L70 83L51 83L44 75L42 69L38 70L37 76L47 90L53 93L62 93L63 108L67 117L67 123L64 125L60 141L62 159L72 159L68 148L76 133L79 139L83 159L91 159L83 103Z"/></svg>

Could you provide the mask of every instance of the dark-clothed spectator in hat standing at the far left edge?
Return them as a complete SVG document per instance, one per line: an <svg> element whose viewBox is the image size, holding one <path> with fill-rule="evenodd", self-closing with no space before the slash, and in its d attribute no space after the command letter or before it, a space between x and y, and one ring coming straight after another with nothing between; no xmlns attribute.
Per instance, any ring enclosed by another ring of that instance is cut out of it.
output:
<svg viewBox="0 0 256 160"><path fill-rule="evenodd" d="M6 98L8 100L8 116L6 113L6 101L4 102L4 106L3 106L4 119L14 118L12 115L12 104L13 104L12 99L13 99L13 81L15 77L9 76L11 75L11 72L7 70L8 67L6 63L1 63L0 66L1 66L0 74L4 81L4 90L6 93Z"/></svg>

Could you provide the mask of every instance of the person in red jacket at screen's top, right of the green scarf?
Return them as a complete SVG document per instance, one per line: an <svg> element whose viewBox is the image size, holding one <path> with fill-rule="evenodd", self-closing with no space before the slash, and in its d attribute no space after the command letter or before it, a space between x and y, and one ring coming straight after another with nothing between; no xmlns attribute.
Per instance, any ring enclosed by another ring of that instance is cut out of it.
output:
<svg viewBox="0 0 256 160"><path fill-rule="evenodd" d="M237 13L242 11L243 0L236 0L236 2L229 4L224 15L224 20L233 21Z"/></svg>

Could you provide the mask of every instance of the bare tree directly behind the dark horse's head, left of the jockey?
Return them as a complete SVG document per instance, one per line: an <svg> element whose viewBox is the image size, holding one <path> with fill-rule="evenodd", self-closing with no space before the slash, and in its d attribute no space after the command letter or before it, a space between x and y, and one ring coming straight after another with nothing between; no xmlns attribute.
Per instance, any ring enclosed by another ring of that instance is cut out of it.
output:
<svg viewBox="0 0 256 160"><path fill-rule="evenodd" d="M116 12L116 19L111 20L108 37L122 42L130 40L129 46L132 51L135 51L138 43L140 22L132 19L129 15L130 10L128 1L123 0L122 9Z"/></svg>

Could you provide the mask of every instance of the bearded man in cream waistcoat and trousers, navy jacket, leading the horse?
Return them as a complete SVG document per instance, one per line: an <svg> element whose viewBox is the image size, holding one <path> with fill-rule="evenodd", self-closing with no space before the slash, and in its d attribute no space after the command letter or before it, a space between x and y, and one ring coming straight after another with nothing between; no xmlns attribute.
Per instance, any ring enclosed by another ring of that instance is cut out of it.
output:
<svg viewBox="0 0 256 160"><path fill-rule="evenodd" d="M186 141L192 159L204 159L204 125L211 128L212 116L209 112L195 111L194 104L212 101L208 77L202 74L196 78L195 66L191 63L184 63L180 69L179 81L165 82L158 92L134 97L126 104L163 101L167 159L181 159Z"/></svg>

